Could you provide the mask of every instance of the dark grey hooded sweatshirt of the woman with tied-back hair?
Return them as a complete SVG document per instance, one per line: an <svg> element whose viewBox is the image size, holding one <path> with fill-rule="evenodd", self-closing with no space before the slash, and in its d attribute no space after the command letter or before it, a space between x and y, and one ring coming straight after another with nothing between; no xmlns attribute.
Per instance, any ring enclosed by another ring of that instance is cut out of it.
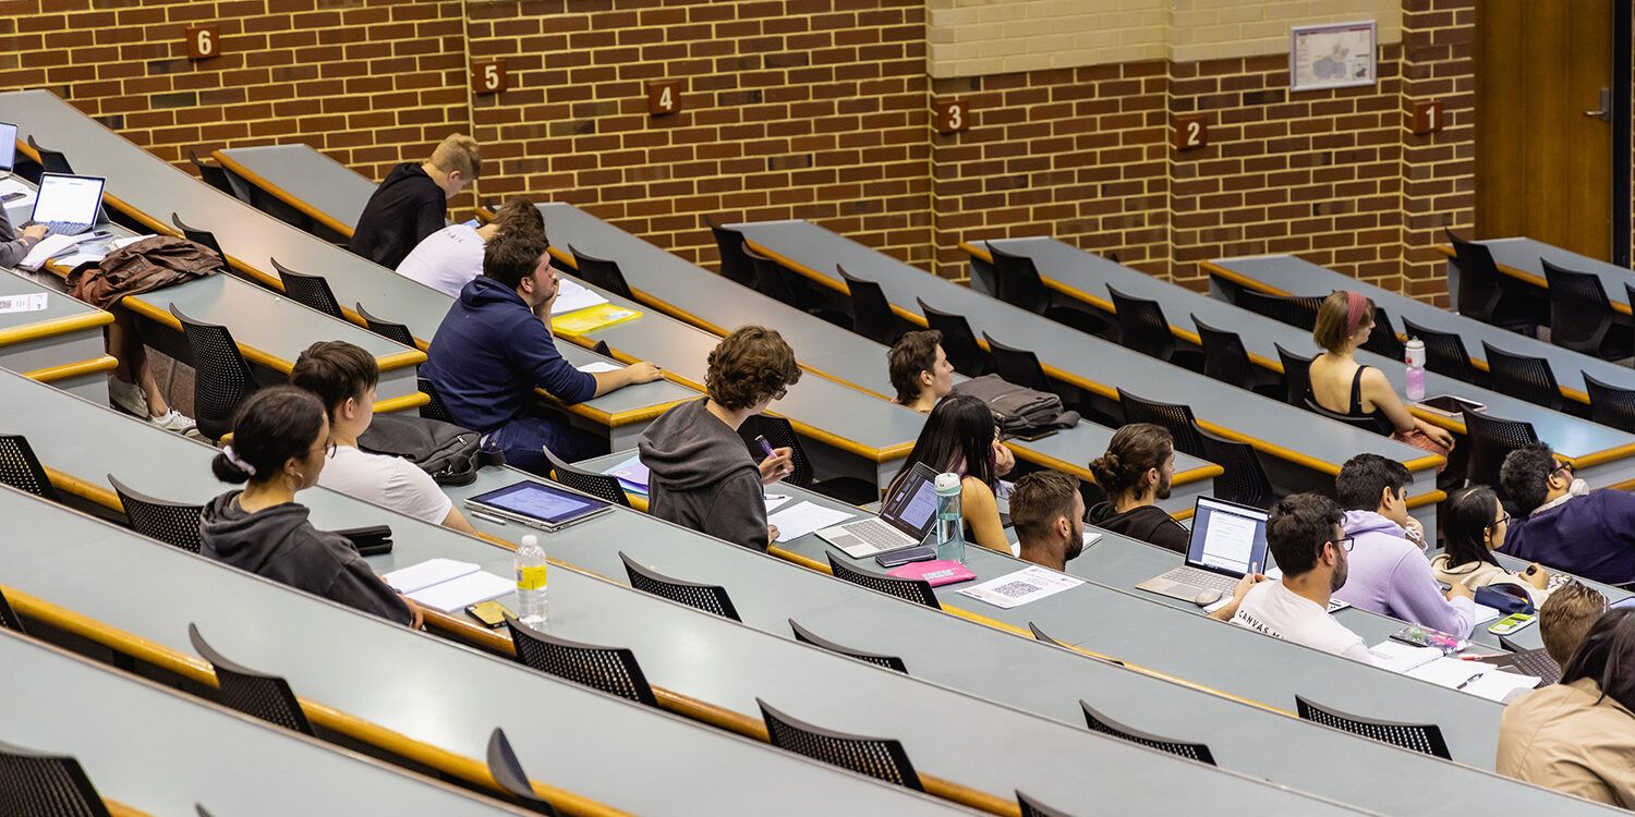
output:
<svg viewBox="0 0 1635 817"><path fill-rule="evenodd" d="M286 502L245 513L239 493L231 490L204 505L199 552L330 601L409 623L402 598L370 570L345 536L314 528L306 505Z"/></svg>

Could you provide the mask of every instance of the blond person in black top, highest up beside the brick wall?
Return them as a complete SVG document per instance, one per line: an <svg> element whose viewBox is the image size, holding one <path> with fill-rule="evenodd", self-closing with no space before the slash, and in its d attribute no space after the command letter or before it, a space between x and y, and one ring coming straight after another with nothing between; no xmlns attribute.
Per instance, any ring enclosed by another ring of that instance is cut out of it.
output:
<svg viewBox="0 0 1635 817"><path fill-rule="evenodd" d="M482 150L466 134L451 134L422 163L392 168L370 194L347 248L387 270L427 235L443 229L448 199L482 175Z"/></svg>

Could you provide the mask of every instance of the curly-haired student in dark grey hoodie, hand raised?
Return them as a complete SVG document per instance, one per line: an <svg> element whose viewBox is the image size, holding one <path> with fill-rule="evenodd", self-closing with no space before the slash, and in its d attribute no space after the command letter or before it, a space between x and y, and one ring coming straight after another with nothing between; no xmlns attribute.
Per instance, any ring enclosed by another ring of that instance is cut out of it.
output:
<svg viewBox="0 0 1635 817"><path fill-rule="evenodd" d="M641 433L652 503L647 511L685 528L765 551L778 529L767 525L762 485L795 471L793 451L777 448L755 464L737 428L765 412L801 379L795 351L765 327L742 327L710 351L703 400L677 405Z"/></svg>

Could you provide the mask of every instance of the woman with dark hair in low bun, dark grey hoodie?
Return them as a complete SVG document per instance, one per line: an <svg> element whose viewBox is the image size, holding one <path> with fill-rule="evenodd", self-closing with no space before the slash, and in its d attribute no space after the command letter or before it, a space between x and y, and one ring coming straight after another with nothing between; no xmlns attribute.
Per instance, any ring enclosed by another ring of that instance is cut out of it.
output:
<svg viewBox="0 0 1635 817"><path fill-rule="evenodd" d="M217 562L306 590L410 627L420 608L399 596L345 536L307 521L296 493L317 484L334 454L324 404L293 386L250 395L232 422L232 444L211 471L244 484L204 505L199 552Z"/></svg>

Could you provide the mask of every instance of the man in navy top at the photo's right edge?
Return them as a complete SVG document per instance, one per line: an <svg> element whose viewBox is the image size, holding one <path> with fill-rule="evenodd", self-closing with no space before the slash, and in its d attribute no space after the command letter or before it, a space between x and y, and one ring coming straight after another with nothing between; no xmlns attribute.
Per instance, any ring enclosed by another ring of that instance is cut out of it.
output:
<svg viewBox="0 0 1635 817"><path fill-rule="evenodd" d="M1516 503L1504 552L1609 585L1635 582L1635 495L1589 490L1548 443L1511 451L1499 489Z"/></svg>

